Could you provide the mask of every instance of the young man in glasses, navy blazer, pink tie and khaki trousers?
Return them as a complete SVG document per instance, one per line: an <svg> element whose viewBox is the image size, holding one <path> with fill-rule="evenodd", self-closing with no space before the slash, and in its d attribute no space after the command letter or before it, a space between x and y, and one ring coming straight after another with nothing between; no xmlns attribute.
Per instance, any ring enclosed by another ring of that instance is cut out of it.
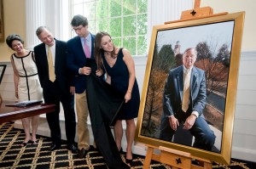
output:
<svg viewBox="0 0 256 169"><path fill-rule="evenodd" d="M88 20L83 15L73 16L71 25L78 36L67 41L67 66L74 75L78 118L78 157L84 158L90 148L90 134L87 125L89 110L86 99L86 78L91 72L96 73L95 36L88 30Z"/></svg>

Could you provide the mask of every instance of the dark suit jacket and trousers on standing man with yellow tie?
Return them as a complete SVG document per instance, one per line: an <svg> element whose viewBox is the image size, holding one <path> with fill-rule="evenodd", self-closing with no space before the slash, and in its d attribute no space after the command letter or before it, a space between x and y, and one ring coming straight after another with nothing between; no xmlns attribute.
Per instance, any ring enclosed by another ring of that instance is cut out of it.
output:
<svg viewBox="0 0 256 169"><path fill-rule="evenodd" d="M55 82L49 81L47 50L44 43L34 48L38 76L43 87L44 102L55 104L55 112L47 113L50 135L54 144L61 144L60 102L65 115L65 129L68 144L74 143L76 120L73 94L70 93L72 76L67 70L67 43L55 40Z"/></svg>

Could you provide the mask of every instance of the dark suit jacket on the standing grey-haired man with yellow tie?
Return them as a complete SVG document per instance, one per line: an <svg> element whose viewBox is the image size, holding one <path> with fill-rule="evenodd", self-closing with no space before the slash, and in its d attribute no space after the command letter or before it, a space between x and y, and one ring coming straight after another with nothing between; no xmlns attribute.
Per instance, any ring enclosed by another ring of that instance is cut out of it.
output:
<svg viewBox="0 0 256 169"><path fill-rule="evenodd" d="M41 86L44 90L49 84L49 69L45 44L41 43L34 47L36 65ZM69 87L72 86L72 76L67 70L67 43L55 39L55 76L61 93L69 94Z"/></svg>

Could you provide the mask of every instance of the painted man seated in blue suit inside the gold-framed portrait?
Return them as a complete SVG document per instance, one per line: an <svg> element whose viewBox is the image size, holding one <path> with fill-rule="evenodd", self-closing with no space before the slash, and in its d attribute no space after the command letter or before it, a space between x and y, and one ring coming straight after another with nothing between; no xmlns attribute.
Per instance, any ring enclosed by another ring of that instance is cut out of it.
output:
<svg viewBox="0 0 256 169"><path fill-rule="evenodd" d="M172 142L177 127L184 122L183 128L195 136L193 147L211 150L216 137L202 115L207 87L204 70L194 66L196 54L195 48L186 49L183 65L169 72L164 90L160 139Z"/></svg>

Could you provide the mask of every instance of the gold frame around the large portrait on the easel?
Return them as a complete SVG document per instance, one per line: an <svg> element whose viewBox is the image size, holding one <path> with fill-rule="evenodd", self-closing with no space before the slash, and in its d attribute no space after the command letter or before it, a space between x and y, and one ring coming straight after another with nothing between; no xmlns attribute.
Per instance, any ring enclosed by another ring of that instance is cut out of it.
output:
<svg viewBox="0 0 256 169"><path fill-rule="evenodd" d="M234 116L235 116L235 108L236 108L236 90L237 90L237 82L238 82L238 71L239 71L239 63L240 63L240 55L241 55L241 40L242 40L242 31L243 31L243 23L244 23L245 12L237 12L232 14L225 14L221 16L216 16L212 18L200 19L200 20L189 20L184 22L177 22L173 24L167 25L155 25L152 31L152 37L150 41L150 46L148 50L148 61L145 70L144 82L143 82L143 90L142 90L142 99L139 109L139 114L137 117L137 129L135 140L137 142L153 145L155 147L164 146L170 149L177 149L184 152L189 152L191 155L207 159L209 161L215 161L223 164L230 164L230 154L232 148L232 132L234 125ZM156 36L158 31L165 31L167 29L179 29L187 26L194 25L207 25L212 23L224 22L234 20L234 34L232 38L232 48L230 51L230 71L227 85L227 94L225 101L224 113L228 115L224 115L224 125L223 125L223 133L222 133L222 141L221 141L221 150L220 153L215 153L212 151L207 151L203 149L196 149L190 146L186 146L183 144L176 144L167 142L164 140L160 140L158 138L150 138L141 134L142 125L143 125L143 115L145 110L146 98L148 93L148 82L150 79L151 68L153 65L153 56L154 56L154 47L156 43Z"/></svg>

